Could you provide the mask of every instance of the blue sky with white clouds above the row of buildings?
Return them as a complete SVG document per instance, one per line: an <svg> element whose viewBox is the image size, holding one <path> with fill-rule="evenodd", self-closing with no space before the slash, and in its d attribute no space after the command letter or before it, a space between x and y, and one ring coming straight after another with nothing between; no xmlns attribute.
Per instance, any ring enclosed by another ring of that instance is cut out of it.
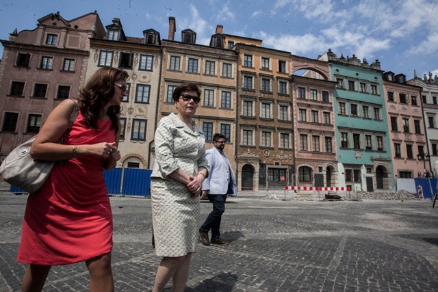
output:
<svg viewBox="0 0 438 292"><path fill-rule="evenodd" d="M153 28L168 38L168 17L177 33L193 29L209 44L216 25L224 34L263 40L263 47L317 58L329 48L339 57L355 54L382 70L413 78L438 75L438 1L428 0L3 0L0 39L15 28L35 29L37 19L59 11L66 20L96 10L103 25L122 21L127 36ZM3 47L0 48L3 53Z"/></svg>

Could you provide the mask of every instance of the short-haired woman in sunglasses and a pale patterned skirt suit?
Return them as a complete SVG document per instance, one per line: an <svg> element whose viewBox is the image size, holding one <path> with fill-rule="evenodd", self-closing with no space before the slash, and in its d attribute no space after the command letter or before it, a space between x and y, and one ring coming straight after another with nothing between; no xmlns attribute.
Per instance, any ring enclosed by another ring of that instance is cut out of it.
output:
<svg viewBox="0 0 438 292"><path fill-rule="evenodd" d="M205 136L192 118L201 101L194 83L173 91L177 114L159 121L155 131L155 163L151 174L151 204L155 253L163 256L154 292L172 278L172 291L184 291L192 253L198 242L199 194L209 166Z"/></svg>

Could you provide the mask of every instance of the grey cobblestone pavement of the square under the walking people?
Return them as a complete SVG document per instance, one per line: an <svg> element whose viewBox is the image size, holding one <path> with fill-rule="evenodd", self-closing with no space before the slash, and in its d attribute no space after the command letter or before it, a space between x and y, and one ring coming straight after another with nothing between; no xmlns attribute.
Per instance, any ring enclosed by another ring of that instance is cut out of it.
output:
<svg viewBox="0 0 438 292"><path fill-rule="evenodd" d="M15 259L26 198L0 194L0 291L21 287L25 265ZM160 260L151 245L151 201L111 202L116 291L149 291ZM438 208L430 200L240 195L226 207L221 229L231 245L199 243L185 291L438 291ZM201 202L202 220L210 209ZM88 291L84 263L53 267L44 291Z"/></svg>

